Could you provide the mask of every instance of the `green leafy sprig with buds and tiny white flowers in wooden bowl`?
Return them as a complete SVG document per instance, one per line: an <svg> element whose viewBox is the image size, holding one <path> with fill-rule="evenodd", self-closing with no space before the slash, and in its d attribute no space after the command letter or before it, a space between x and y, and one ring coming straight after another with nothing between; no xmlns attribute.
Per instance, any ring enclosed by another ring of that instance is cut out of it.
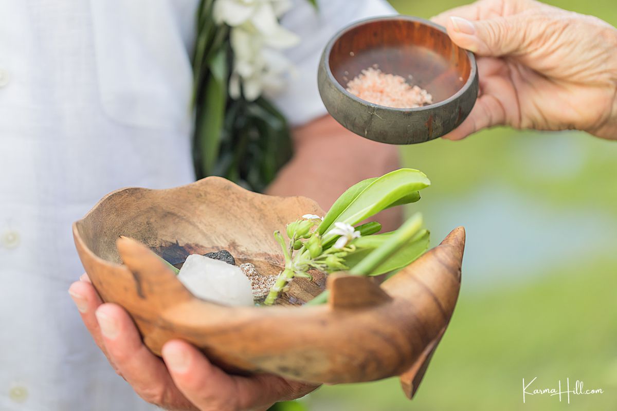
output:
<svg viewBox="0 0 617 411"><path fill-rule="evenodd" d="M285 269L264 303L274 304L294 277L310 278L310 269L379 275L407 266L428 248L429 233L422 229L420 214L398 230L384 234L376 234L381 230L379 223L360 223L392 206L418 201L418 190L430 184L428 177L415 169L399 169L366 179L347 189L323 219L307 214L289 223L289 242L275 232L283 249ZM327 294L321 295L312 304L326 299Z"/></svg>

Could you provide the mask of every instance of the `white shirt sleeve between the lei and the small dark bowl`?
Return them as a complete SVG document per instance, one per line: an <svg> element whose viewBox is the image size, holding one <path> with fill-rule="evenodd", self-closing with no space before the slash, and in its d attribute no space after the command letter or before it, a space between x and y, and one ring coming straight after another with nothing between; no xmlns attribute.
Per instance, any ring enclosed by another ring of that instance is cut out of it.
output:
<svg viewBox="0 0 617 411"><path fill-rule="evenodd" d="M319 0L317 10L308 0L293 3L281 24L301 39L285 51L297 75L271 99L291 126L299 126L327 113L317 89L317 68L329 39L349 23L396 12L385 0Z"/></svg>

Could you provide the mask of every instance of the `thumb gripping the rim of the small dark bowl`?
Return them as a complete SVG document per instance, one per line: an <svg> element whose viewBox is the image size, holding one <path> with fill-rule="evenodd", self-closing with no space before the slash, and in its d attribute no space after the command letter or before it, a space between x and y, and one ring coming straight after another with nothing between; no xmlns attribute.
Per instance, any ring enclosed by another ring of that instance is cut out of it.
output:
<svg viewBox="0 0 617 411"><path fill-rule="evenodd" d="M523 54L526 49L526 21L520 15L470 22L450 17L448 35L454 43L478 55L500 57Z"/></svg>

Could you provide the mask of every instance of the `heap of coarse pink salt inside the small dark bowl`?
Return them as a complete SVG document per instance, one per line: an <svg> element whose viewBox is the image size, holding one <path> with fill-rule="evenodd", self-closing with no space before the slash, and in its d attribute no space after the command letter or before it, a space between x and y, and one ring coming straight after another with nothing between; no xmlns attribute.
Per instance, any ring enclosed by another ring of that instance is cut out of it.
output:
<svg viewBox="0 0 617 411"><path fill-rule="evenodd" d="M347 83L347 91L386 107L413 108L433 103L433 96L426 90L410 85L402 76L383 73L377 66L362 70Z"/></svg>

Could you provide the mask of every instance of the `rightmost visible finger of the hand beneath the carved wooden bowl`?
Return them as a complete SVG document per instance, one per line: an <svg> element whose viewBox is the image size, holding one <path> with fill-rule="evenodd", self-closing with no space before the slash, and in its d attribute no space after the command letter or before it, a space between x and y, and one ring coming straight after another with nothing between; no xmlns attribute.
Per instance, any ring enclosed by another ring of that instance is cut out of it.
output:
<svg viewBox="0 0 617 411"><path fill-rule="evenodd" d="M273 375L228 375L180 340L165 344L162 354L176 386L202 411L265 410L276 401L297 398L315 389Z"/></svg>

